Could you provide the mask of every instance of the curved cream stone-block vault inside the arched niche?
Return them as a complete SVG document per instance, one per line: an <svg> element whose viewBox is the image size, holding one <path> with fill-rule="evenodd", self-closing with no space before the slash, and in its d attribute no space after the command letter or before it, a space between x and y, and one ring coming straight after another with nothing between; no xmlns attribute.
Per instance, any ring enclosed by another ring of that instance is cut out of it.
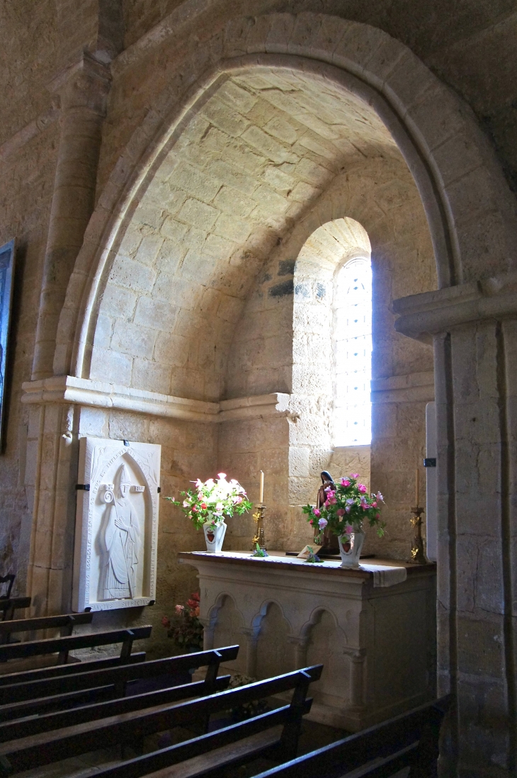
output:
<svg viewBox="0 0 517 778"><path fill-rule="evenodd" d="M407 168L361 100L254 68L222 82L141 197L100 305L90 377L214 400L246 297L271 251L338 174Z"/></svg>

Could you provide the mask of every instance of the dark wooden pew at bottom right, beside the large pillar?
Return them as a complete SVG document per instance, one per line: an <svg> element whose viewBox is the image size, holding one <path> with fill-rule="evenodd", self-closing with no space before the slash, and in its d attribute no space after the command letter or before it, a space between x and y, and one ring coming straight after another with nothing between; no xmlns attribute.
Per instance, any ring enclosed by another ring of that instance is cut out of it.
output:
<svg viewBox="0 0 517 778"><path fill-rule="evenodd" d="M435 778L440 727L449 705L450 697L442 697L266 770L256 778L347 778L350 773L354 778L384 778L408 766L410 778Z"/></svg>

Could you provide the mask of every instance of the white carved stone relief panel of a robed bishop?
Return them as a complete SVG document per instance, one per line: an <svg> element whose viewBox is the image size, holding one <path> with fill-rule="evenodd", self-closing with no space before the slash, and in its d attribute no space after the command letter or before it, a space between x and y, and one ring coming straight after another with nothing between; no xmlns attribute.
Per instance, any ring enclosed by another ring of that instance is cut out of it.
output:
<svg viewBox="0 0 517 778"><path fill-rule="evenodd" d="M161 446L83 437L75 517L76 611L155 599Z"/></svg>

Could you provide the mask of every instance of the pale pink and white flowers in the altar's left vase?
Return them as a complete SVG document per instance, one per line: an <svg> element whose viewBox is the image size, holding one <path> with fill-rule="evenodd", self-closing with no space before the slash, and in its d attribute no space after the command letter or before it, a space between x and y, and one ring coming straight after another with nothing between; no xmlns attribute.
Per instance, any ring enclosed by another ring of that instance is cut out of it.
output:
<svg viewBox="0 0 517 778"><path fill-rule="evenodd" d="M173 505L180 506L197 530L207 522L217 526L222 524L225 516L233 516L233 513L244 513L250 510L252 503L247 499L246 492L235 478L226 480L226 473L218 473L217 479L208 478L201 481L197 478L195 489L187 489L181 492L183 502L166 497Z"/></svg>

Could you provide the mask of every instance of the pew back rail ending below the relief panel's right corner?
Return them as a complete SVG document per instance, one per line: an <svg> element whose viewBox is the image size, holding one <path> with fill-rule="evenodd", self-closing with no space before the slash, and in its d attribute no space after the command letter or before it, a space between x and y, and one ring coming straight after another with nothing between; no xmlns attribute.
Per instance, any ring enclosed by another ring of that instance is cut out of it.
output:
<svg viewBox="0 0 517 778"><path fill-rule="evenodd" d="M0 646L0 662L40 657L45 654L59 654L58 661L65 664L68 661L69 651L107 646L110 643L122 644L121 659L127 661L131 654L133 640L147 638L151 634L151 629L151 626L142 626L134 627L133 629L113 629L108 632L71 635L47 640L29 640L26 643L7 643Z"/></svg>

